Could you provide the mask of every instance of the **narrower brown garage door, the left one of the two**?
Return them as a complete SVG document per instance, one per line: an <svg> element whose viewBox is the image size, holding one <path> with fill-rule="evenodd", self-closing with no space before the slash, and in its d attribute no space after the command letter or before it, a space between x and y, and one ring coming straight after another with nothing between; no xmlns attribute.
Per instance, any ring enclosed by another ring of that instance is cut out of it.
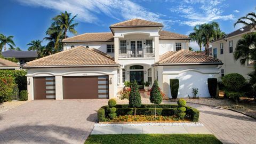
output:
<svg viewBox="0 0 256 144"><path fill-rule="evenodd" d="M34 77L34 99L55 99L55 77Z"/></svg>

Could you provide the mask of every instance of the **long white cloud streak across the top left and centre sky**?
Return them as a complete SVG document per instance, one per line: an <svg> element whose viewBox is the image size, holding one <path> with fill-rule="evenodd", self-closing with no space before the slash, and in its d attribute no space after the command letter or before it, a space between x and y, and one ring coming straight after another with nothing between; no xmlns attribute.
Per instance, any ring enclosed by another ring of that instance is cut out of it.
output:
<svg viewBox="0 0 256 144"><path fill-rule="evenodd" d="M68 11L78 14L77 20L89 23L103 23L99 15L104 14L107 17L119 21L141 18L150 21L162 22L167 27L172 21L162 19L163 14L150 12L145 7L131 2L129 0L17 0L22 4L30 6L42 6L56 11Z"/></svg>

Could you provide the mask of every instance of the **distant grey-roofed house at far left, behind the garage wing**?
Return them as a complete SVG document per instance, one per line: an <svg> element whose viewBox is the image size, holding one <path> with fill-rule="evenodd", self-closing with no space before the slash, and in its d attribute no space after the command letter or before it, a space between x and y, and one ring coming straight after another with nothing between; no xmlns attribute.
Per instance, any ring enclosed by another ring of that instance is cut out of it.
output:
<svg viewBox="0 0 256 144"><path fill-rule="evenodd" d="M26 62L35 60L37 57L37 51L17 51L17 50L8 50L2 52L4 58L15 58L20 62L20 65L23 65Z"/></svg>

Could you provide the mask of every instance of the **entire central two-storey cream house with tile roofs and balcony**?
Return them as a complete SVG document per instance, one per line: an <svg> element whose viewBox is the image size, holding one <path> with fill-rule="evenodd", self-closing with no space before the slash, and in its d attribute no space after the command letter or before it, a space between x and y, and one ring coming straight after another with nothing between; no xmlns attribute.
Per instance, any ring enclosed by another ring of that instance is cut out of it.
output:
<svg viewBox="0 0 256 144"><path fill-rule="evenodd" d="M110 26L111 33L63 39L64 51L27 62L28 98L115 98L125 81L154 82L171 98L170 78L180 82L178 97L210 97L207 78L218 77L218 59L188 50L190 38L162 30L162 23L132 19ZM86 48L87 47L87 48Z"/></svg>

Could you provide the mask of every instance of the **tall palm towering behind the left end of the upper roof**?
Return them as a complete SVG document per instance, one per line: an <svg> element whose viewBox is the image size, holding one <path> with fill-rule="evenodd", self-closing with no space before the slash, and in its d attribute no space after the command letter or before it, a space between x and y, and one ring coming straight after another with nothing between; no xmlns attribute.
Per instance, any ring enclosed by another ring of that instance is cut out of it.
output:
<svg viewBox="0 0 256 144"><path fill-rule="evenodd" d="M52 20L54 20L54 22L52 22L52 27L57 27L59 29L59 34L57 36L55 45L54 45L54 49L56 50L58 47L58 42L59 39L61 37L61 35L63 35L63 38L67 38L67 32L69 31L72 34L77 34L77 31L75 30L75 27L78 25L78 23L73 23L73 21L75 20L75 18L77 17L77 14L71 18L71 13L68 13L67 11L65 11L65 13L60 13L59 15L57 15L56 17L52 18ZM53 31L51 31L53 33L56 32L56 29L53 29ZM50 33L52 34L52 33Z"/></svg>

